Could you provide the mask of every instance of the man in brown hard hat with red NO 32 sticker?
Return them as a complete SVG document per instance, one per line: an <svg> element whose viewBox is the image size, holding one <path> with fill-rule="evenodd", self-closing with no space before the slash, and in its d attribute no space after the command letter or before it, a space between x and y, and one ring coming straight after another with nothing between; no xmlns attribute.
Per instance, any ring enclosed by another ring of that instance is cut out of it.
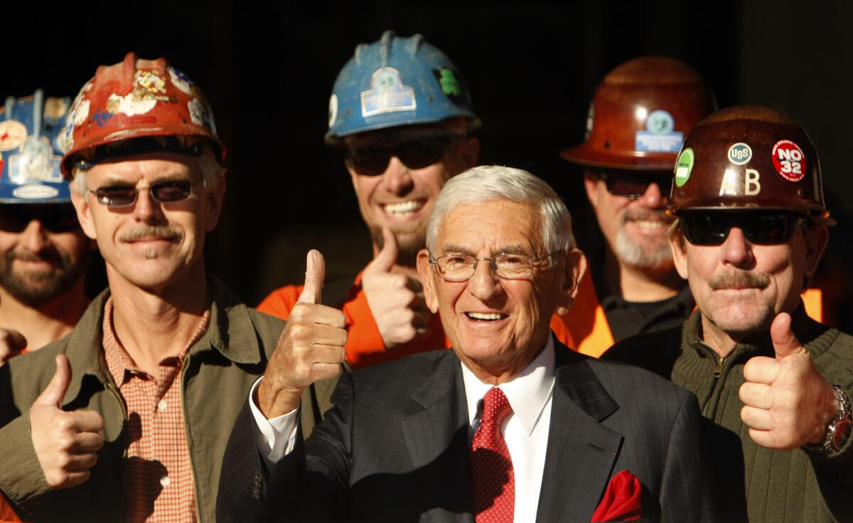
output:
<svg viewBox="0 0 853 523"><path fill-rule="evenodd" d="M774 110L719 111L685 141L667 212L698 310L602 357L696 394L726 521L850 520L853 338L800 297L833 223L814 144Z"/></svg>

